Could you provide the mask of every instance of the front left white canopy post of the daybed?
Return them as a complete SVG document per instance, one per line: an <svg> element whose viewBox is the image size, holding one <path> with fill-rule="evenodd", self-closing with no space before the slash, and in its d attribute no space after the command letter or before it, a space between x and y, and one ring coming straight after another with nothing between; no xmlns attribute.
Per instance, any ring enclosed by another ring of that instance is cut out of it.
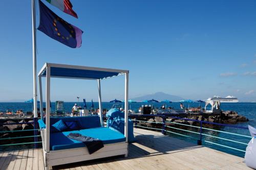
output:
<svg viewBox="0 0 256 170"><path fill-rule="evenodd" d="M50 152L50 75L51 67L46 67L46 152Z"/></svg>

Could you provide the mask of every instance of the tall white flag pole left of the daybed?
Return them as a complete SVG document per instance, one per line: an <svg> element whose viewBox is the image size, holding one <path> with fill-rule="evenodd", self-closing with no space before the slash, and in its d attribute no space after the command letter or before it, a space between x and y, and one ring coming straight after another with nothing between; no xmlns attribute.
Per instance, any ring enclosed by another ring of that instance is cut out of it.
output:
<svg viewBox="0 0 256 170"><path fill-rule="evenodd" d="M35 25L35 1L31 0L32 2L32 41L33 41L33 99L34 99L34 117L37 117L37 79L36 79L36 25Z"/></svg>

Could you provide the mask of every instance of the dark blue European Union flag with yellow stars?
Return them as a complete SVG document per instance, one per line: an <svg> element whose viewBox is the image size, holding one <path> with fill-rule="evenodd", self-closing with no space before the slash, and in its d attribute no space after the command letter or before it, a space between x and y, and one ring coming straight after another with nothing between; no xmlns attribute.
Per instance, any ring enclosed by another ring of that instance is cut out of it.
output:
<svg viewBox="0 0 256 170"><path fill-rule="evenodd" d="M79 28L60 18L41 1L39 1L39 3L40 24L37 29L72 48L80 47L83 32Z"/></svg>

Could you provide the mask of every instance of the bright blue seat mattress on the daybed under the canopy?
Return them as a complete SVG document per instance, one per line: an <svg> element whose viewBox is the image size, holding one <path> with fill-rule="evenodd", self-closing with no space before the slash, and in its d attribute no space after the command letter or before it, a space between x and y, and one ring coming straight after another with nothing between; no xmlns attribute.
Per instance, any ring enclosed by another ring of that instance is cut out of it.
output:
<svg viewBox="0 0 256 170"><path fill-rule="evenodd" d="M80 133L81 135L84 135L84 136L98 138L102 140L104 144L118 143L118 142L125 141L124 135L120 132L117 132L105 127L90 128L90 129L82 129L77 131L51 133L50 149L52 151L56 151L56 150L86 147L86 145L84 145L83 142L68 138L67 136L70 133Z"/></svg>

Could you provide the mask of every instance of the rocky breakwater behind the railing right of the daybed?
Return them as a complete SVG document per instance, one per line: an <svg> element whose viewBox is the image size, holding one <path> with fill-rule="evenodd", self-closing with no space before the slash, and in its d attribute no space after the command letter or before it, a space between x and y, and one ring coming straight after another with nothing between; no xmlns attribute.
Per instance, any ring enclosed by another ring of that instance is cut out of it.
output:
<svg viewBox="0 0 256 170"><path fill-rule="evenodd" d="M205 121L205 122L210 122L210 123L219 123L219 124L236 124L239 122L247 122L248 118L245 116L239 115L235 111L225 111L222 112L221 114L193 114L190 115L188 114L185 117L182 118L188 118L188 119L193 119L193 120L184 120L184 119L179 119L175 118L173 116L165 116L165 125L166 126L172 126L172 127L180 127L182 125L179 124L185 124L185 125L193 125L193 126L200 126L200 123L195 120L200 120L200 121ZM135 120L135 118L133 118ZM148 128L157 128L157 129L162 129L162 123L163 118L160 116L147 116L144 117L143 115L137 116L137 120L142 120L143 122L138 121L137 125L142 126L142 127L148 127ZM178 124L174 124L178 123ZM218 125L212 125L212 124L207 124L204 123L204 126L218 126ZM184 127L184 126L183 126Z"/></svg>

